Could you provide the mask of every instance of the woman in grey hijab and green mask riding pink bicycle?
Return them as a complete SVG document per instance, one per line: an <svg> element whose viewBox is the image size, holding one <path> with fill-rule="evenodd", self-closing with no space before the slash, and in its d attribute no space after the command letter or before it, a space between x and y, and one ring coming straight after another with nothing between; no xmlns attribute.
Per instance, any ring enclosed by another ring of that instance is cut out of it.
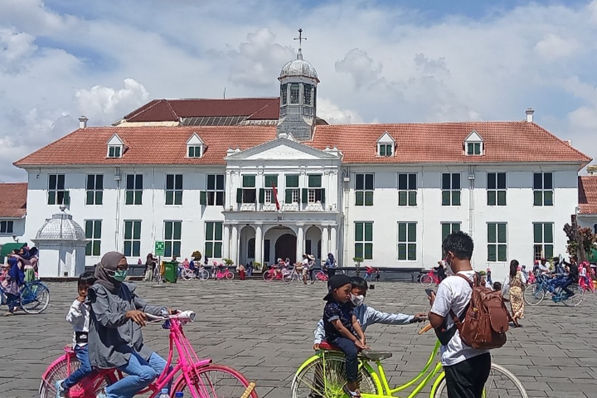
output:
<svg viewBox="0 0 597 398"><path fill-rule="evenodd" d="M127 259L118 252L108 252L97 264L94 283L88 290L91 305L89 359L100 369L117 368L128 374L109 385L97 397L133 397L147 387L166 366L166 361L143 343L141 327L145 313L165 316L166 307L147 304L135 293L127 277Z"/></svg>

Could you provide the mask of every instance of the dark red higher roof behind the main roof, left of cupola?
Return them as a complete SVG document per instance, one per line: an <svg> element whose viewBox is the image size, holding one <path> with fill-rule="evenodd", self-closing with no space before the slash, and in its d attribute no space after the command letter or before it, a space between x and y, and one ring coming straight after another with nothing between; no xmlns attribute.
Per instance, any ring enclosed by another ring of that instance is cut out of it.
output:
<svg viewBox="0 0 597 398"><path fill-rule="evenodd" d="M247 116L251 120L278 119L280 98L153 100L124 116L128 122L179 121L193 116Z"/></svg>

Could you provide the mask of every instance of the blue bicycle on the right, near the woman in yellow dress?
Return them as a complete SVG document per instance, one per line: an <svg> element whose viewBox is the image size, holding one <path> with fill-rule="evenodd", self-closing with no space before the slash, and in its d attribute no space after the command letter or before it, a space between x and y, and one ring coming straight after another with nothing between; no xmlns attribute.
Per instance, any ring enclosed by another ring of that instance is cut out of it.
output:
<svg viewBox="0 0 597 398"><path fill-rule="evenodd" d="M552 295L554 303L564 303L567 307L578 307L583 302L583 291L578 288L578 283L573 283L568 286L568 289L573 294L568 294L562 289L562 285L567 280L565 275L556 275L555 277L548 277L546 275L538 275L535 283L531 283L524 290L522 295L525 303L529 306L538 306L545 298L547 293Z"/></svg>

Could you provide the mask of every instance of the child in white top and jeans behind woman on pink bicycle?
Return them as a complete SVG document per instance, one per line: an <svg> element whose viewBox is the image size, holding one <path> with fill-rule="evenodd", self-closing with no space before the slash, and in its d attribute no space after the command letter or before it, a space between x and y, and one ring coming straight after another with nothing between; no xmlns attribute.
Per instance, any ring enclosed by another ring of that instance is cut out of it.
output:
<svg viewBox="0 0 597 398"><path fill-rule="evenodd" d="M76 359L81 366L72 372L65 380L56 382L56 398L63 397L67 390L81 381L85 376L91 373L91 363L89 362L89 351L87 347L87 337L89 333L89 303L85 303L87 298L87 289L90 288L96 278L91 272L82 273L79 276L77 289L79 296L70 306L69 313L66 314L66 320L73 327L73 350L75 350Z"/></svg>

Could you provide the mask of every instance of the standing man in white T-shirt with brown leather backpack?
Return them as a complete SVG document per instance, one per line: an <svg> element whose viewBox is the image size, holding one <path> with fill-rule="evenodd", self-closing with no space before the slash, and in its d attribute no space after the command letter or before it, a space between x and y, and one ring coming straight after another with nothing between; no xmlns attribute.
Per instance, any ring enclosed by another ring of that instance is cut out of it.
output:
<svg viewBox="0 0 597 398"><path fill-rule="evenodd" d="M506 341L507 309L500 292L479 286L481 279L470 264L473 240L469 235L451 233L442 246L453 276L430 295L429 321L442 344L448 398L481 398L491 369L489 348ZM500 330L492 329L490 316Z"/></svg>

